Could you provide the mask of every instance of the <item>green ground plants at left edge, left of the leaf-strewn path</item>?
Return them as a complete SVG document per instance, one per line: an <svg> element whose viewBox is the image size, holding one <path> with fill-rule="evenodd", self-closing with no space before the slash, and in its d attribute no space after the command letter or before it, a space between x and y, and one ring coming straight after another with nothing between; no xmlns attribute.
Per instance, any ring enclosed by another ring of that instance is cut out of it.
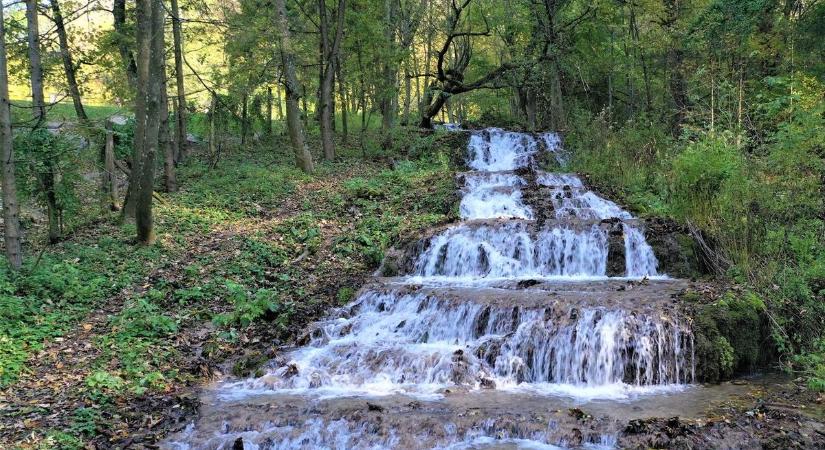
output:
<svg viewBox="0 0 825 450"><path fill-rule="evenodd" d="M13 382L32 352L66 333L100 301L131 284L160 249L135 249L122 230L84 243L65 243L23 271L0 267L0 385Z"/></svg>

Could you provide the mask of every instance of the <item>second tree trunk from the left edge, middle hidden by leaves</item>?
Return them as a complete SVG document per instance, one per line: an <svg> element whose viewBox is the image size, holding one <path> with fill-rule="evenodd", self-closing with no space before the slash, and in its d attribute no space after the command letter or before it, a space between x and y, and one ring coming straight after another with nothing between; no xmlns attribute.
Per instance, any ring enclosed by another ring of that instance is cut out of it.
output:
<svg viewBox="0 0 825 450"><path fill-rule="evenodd" d="M46 120L46 100L43 95L43 65L40 60L40 29L37 23L37 0L26 0L26 28L29 44L29 74L32 90L32 109L35 123L32 130L43 125ZM55 193L54 161L46 158L38 174L41 188L46 197L46 215L49 222L49 242L60 240L60 207Z"/></svg>

